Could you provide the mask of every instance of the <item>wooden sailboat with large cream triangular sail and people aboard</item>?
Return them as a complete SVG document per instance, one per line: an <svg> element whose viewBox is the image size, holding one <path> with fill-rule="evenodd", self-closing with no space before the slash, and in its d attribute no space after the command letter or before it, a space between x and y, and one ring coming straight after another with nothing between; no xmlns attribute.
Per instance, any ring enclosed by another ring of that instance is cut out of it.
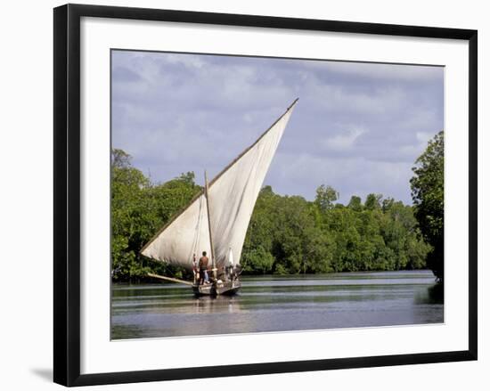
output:
<svg viewBox="0 0 490 391"><path fill-rule="evenodd" d="M297 102L211 181L205 173L203 190L142 248L145 257L194 271L194 281L151 277L191 285L198 296L230 295L241 288L241 249L250 217ZM196 258L204 251L210 255L208 283L196 276Z"/></svg>

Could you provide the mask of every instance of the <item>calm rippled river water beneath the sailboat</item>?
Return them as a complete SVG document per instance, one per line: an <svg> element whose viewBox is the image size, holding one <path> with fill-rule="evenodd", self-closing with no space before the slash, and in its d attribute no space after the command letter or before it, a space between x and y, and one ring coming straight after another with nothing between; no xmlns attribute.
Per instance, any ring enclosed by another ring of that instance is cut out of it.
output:
<svg viewBox="0 0 490 391"><path fill-rule="evenodd" d="M234 297L175 283L113 284L111 338L155 338L444 322L429 271L258 276Z"/></svg>

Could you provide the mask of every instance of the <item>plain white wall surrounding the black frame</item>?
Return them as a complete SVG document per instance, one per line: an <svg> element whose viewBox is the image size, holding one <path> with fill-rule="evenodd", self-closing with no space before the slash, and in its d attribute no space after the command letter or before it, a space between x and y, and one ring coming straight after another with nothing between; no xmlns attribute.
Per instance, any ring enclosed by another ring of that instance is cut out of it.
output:
<svg viewBox="0 0 490 391"><path fill-rule="evenodd" d="M80 2L85 3L85 2ZM3 4L0 61L0 297L3 389L54 389L52 383L53 258L53 7L55 1ZM490 25L485 2L264 2L225 0L96 1L89 4L146 6L208 12L268 14L328 20L353 20L460 29L478 29L479 68L479 360L376 369L290 373L241 379L201 379L100 389L318 389L452 390L488 389L490 368L487 302L490 234L488 171L490 147ZM165 354L162 352L162 354Z"/></svg>

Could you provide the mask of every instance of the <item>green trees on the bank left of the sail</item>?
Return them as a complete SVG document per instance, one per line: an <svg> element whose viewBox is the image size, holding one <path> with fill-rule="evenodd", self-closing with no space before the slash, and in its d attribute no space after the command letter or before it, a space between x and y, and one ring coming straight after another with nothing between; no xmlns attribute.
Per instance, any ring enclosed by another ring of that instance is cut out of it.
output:
<svg viewBox="0 0 490 391"><path fill-rule="evenodd" d="M131 167L124 151L112 151L111 227L112 278L114 281L141 281L146 273L187 273L142 257L144 244L178 210L200 191L193 173L167 183L151 183L141 171Z"/></svg>

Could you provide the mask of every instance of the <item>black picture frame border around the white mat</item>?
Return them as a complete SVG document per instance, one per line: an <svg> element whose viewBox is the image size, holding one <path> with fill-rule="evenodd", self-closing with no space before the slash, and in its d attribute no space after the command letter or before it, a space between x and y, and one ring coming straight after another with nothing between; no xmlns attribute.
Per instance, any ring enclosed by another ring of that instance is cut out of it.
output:
<svg viewBox="0 0 490 391"><path fill-rule="evenodd" d="M297 362L266 362L200 368L80 374L80 19L161 20L269 29L317 30L400 37L458 39L469 42L469 349L441 353L396 354ZM54 9L54 308L53 379L64 386L88 386L172 379L214 378L291 371L458 362L478 357L478 32L271 16L187 12L67 4Z"/></svg>

